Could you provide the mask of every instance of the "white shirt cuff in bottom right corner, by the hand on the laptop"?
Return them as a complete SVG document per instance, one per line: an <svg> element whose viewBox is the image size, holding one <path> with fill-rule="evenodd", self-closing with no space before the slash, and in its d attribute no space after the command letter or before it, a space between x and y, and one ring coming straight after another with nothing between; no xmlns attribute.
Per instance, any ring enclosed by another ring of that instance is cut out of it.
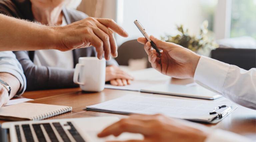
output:
<svg viewBox="0 0 256 142"><path fill-rule="evenodd" d="M252 142L252 141L241 135L217 129L217 130L214 130L206 138L205 142Z"/></svg>

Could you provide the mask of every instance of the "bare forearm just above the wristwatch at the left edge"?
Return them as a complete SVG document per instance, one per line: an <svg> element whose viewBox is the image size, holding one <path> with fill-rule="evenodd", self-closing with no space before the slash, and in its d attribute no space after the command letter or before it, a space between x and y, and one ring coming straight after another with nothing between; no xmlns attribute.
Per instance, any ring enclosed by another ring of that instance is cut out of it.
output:
<svg viewBox="0 0 256 142"><path fill-rule="evenodd" d="M9 99L11 99L17 94L20 88L19 80L9 73L0 73L0 79L9 84L11 87L11 94L9 96Z"/></svg>

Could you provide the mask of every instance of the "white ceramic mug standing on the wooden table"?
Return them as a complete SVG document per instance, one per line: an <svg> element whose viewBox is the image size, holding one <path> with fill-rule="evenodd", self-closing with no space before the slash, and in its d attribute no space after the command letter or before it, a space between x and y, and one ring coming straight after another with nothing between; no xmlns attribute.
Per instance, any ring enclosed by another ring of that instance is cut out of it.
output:
<svg viewBox="0 0 256 142"><path fill-rule="evenodd" d="M97 57L80 57L76 64L73 81L83 91L100 92L104 89L106 60Z"/></svg>

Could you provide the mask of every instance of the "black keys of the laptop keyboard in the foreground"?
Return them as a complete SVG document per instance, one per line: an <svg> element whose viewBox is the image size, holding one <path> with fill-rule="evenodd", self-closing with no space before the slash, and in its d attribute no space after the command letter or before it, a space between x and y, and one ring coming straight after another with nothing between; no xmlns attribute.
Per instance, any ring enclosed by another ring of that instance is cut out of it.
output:
<svg viewBox="0 0 256 142"><path fill-rule="evenodd" d="M79 132L71 122L67 122L63 128L59 122L41 124L22 124L15 125L18 142L85 142ZM44 130L42 130L42 127ZM32 129L31 129L32 128ZM55 129L55 130L54 130ZM66 130L66 131L65 131ZM56 134L57 133L57 134ZM24 137L22 138L22 135ZM70 138L72 137L72 138Z"/></svg>

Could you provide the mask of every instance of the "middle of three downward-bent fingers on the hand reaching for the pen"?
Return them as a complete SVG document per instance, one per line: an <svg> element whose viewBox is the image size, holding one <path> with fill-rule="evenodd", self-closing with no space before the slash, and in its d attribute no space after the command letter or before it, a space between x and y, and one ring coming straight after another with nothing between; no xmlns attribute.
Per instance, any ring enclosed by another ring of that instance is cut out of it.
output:
<svg viewBox="0 0 256 142"><path fill-rule="evenodd" d="M110 59L111 48L110 48L110 42L109 42L108 34L103 32L99 28L93 28L93 32L94 32L95 35L97 35L101 39L101 41L103 41L104 57L105 57L106 60L109 60Z"/></svg>

